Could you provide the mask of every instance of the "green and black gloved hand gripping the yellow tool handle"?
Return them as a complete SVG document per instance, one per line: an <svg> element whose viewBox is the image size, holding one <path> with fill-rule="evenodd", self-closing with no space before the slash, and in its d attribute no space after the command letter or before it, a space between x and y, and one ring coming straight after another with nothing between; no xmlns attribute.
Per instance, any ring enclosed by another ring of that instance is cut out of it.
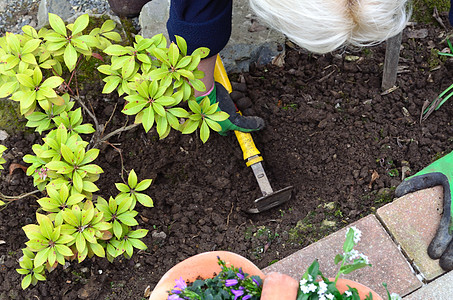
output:
<svg viewBox="0 0 453 300"><path fill-rule="evenodd" d="M197 102L200 103L206 96L197 97ZM216 82L213 90L207 96L211 105L219 102L218 111L224 111L230 115L225 121L219 122L222 130L219 131L220 135L228 135L228 131L237 130L242 132L251 132L264 128L264 120L255 116L241 116L237 113L236 106L231 100L228 91Z"/></svg>

